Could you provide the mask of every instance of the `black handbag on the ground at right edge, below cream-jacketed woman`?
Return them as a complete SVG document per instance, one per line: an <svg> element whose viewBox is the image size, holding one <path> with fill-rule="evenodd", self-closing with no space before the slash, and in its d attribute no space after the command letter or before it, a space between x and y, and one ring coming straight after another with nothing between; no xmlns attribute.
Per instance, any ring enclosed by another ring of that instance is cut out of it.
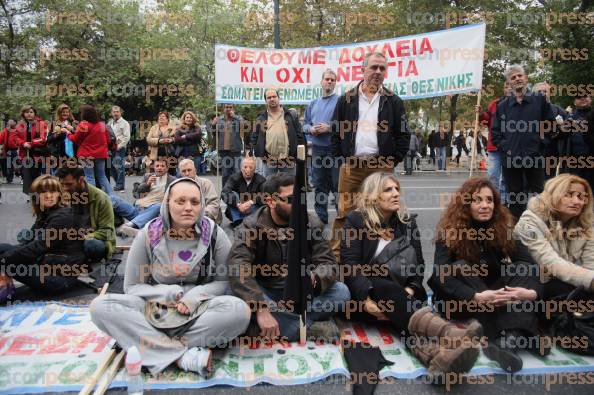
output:
<svg viewBox="0 0 594 395"><path fill-rule="evenodd" d="M583 287L578 287L567 295L566 300L579 301L591 298L591 293L584 290ZM558 313L552 317L552 332L553 336L576 339L580 345L576 347L574 341L559 342L557 343L559 347L577 354L594 355L594 312L564 311Z"/></svg>

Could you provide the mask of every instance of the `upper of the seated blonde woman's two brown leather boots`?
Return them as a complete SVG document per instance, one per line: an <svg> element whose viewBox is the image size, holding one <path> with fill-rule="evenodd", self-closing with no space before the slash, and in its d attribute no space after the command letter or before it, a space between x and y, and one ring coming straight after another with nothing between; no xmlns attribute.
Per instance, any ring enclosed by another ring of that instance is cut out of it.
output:
<svg viewBox="0 0 594 395"><path fill-rule="evenodd" d="M440 344L447 348L457 348L462 341L478 343L483 335L483 327L477 320L455 324L441 318L431 307L423 307L412 315L408 322L408 331L411 334L439 339Z"/></svg>

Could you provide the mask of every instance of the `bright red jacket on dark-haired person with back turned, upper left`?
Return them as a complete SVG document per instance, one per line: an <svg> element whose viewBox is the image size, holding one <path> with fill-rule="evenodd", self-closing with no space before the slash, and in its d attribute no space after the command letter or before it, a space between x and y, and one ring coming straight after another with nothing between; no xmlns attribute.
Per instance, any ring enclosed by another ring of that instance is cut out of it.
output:
<svg viewBox="0 0 594 395"><path fill-rule="evenodd" d="M107 152L109 137L105 123L102 121L97 123L82 121L74 133L68 134L68 138L78 146L76 151L78 158L109 158Z"/></svg>

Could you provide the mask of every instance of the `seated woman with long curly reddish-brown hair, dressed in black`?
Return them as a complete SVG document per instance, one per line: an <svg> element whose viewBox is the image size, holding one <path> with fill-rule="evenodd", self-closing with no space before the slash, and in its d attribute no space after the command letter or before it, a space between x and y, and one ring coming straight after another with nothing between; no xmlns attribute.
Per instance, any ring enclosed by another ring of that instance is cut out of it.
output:
<svg viewBox="0 0 594 395"><path fill-rule="evenodd" d="M538 266L512 239L512 230L511 213L493 184L486 178L466 181L437 225L428 282L446 318L478 319L488 341L485 354L508 372L522 368L518 348L539 348L537 315L523 307L542 292Z"/></svg>

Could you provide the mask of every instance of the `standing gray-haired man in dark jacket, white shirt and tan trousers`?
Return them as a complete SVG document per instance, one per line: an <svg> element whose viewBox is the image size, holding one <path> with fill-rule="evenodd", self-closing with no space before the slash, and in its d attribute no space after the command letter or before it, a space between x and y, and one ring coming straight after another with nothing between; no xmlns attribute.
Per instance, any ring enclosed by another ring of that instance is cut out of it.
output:
<svg viewBox="0 0 594 395"><path fill-rule="evenodd" d="M353 209L363 180L392 172L408 151L410 133L404 103L383 86L388 68L381 52L365 55L363 81L338 99L332 120L332 148L343 157L338 176L338 214L332 248L338 257L344 216Z"/></svg>

